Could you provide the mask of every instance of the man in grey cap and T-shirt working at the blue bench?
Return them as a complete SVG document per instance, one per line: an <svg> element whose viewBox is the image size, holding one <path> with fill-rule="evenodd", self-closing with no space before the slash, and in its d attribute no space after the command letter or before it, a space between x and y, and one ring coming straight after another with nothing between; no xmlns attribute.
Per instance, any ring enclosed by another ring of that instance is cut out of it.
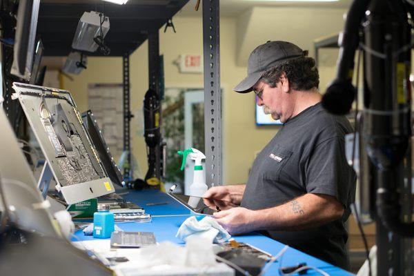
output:
<svg viewBox="0 0 414 276"><path fill-rule="evenodd" d="M317 90L315 60L285 41L268 41L248 59L248 76L236 92L254 91L257 105L284 124L259 153L246 185L210 188L204 197L240 207L215 213L231 234L262 233L345 269L344 222L355 199L348 166L345 117L328 114Z"/></svg>

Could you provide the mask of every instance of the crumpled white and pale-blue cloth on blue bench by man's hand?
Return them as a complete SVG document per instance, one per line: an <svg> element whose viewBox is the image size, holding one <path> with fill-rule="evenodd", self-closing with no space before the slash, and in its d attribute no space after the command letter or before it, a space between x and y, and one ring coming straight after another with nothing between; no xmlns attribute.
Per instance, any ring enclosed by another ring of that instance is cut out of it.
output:
<svg viewBox="0 0 414 276"><path fill-rule="evenodd" d="M187 242L188 237L197 237L218 244L228 241L231 236L213 217L204 217L197 221L196 217L192 216L181 224L175 237L184 242Z"/></svg>

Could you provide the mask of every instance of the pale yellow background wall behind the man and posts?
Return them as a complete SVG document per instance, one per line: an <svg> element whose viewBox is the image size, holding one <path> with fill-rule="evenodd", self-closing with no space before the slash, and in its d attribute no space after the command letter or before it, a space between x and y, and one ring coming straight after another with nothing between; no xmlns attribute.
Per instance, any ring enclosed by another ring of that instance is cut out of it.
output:
<svg viewBox="0 0 414 276"><path fill-rule="evenodd" d="M254 24L256 34L246 35L244 39L249 39L251 46L255 47L261 43L266 42L264 37L269 40L277 40L277 32L270 33L269 28L261 30L259 26L268 26L273 24L274 19L271 17L280 17L284 12L283 9L277 8L260 8L260 12L265 12L266 17L259 18L255 16L254 19L248 23L241 24L237 17L226 17L220 20L220 55L221 55L221 86L223 88L222 95L222 145L223 145L223 181L224 184L243 183L247 180L248 170L253 163L255 153L261 150L264 145L275 135L277 127L257 127L255 126L255 106L254 96L250 93L247 95L240 95L233 92L232 88L243 79L246 75L246 64L242 66L237 64L237 36L240 35L240 28L249 28L246 25ZM333 12L331 17L330 12L324 9L308 9L313 12L315 20L318 18L318 13L324 13L324 20L335 26L341 26L342 17L338 18L338 14L342 14L344 10ZM285 10L286 12L286 10ZM294 12L294 9L290 9ZM304 9L301 9L304 12ZM251 11L257 14L257 11ZM203 75L202 74L181 74L177 66L173 64L180 54L202 54L202 24L201 13L197 17L182 17L174 18L175 28L177 33L168 30L166 34L160 32L160 53L164 55L164 70L165 70L165 86L166 88L202 88ZM245 26L243 26L245 25ZM296 25L298 25L296 23ZM312 30L306 29L306 22L299 24L302 28L295 28L292 32L298 37ZM275 26L275 30L281 28ZM284 29L289 28L289 23L283 26ZM266 33L262 33L266 32ZM332 31L326 33L331 34ZM239 33L239 34L238 34ZM313 39L319 37L322 30L317 30ZM240 43L240 42L239 42ZM308 41L304 48L310 48L313 43ZM301 45L299 45L301 46ZM246 47L246 46L244 46ZM251 50L250 49L249 52ZM142 108L142 101L144 93L148 89L148 46L144 43L137 49L130 57L130 79L131 79L131 110L137 112ZM329 52L321 63L321 88L324 90L326 83L333 79L335 75L335 59L337 52ZM333 57L332 57L333 55ZM86 110L88 108L88 83L121 83L121 58L113 57L89 57L88 69L81 72L80 75L74 76L74 80L70 81L65 78L63 86L65 89L72 92L73 97L79 107L79 110ZM146 172L146 150L144 138L137 136L136 119L132 119L132 147L135 156L141 164L141 170ZM119 141L121 143L121 141Z"/></svg>

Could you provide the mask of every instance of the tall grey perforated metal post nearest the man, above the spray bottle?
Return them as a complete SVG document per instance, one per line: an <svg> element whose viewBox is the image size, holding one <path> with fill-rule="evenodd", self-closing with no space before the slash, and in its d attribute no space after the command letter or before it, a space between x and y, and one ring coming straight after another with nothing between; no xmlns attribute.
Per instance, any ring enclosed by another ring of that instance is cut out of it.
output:
<svg viewBox="0 0 414 276"><path fill-rule="evenodd" d="M219 0L203 1L204 135L206 184L221 185L221 89Z"/></svg>

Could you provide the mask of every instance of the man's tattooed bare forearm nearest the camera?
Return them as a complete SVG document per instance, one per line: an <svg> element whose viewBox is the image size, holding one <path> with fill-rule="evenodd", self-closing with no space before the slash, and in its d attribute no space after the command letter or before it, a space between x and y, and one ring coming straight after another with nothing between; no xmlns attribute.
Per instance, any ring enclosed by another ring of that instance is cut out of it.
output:
<svg viewBox="0 0 414 276"><path fill-rule="evenodd" d="M308 193L286 204L255 211L257 230L303 230L342 217L344 206L329 195Z"/></svg>

